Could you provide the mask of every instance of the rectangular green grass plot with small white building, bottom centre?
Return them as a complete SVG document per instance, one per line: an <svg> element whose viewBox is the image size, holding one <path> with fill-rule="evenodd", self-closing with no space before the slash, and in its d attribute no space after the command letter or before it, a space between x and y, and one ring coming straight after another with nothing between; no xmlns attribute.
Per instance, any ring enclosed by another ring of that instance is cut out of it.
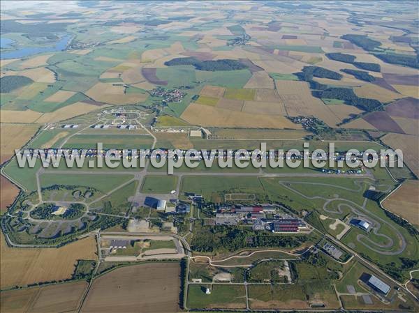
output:
<svg viewBox="0 0 419 313"><path fill-rule="evenodd" d="M207 288L211 294L205 294ZM246 307L244 286L213 284L190 284L188 303L190 308L244 309Z"/></svg>

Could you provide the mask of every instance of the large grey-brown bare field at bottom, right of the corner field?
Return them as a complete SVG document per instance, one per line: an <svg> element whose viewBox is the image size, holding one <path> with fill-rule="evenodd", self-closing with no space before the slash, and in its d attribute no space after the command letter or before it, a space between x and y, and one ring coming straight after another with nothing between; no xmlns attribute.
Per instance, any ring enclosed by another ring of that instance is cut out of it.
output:
<svg viewBox="0 0 419 313"><path fill-rule="evenodd" d="M82 312L178 312L178 263L138 264L98 277Z"/></svg>

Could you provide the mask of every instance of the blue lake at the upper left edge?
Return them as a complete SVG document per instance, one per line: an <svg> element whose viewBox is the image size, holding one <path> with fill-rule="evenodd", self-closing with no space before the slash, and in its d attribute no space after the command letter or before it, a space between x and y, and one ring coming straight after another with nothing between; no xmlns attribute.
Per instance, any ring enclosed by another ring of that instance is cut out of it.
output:
<svg viewBox="0 0 419 313"><path fill-rule="evenodd" d="M15 51L10 52L2 52L0 59L20 59L26 56L31 56L38 53L44 52L55 52L55 51L63 51L67 48L68 43L71 40L70 35L66 35L61 38L57 43L52 47L24 47L22 49L17 49ZM5 40L5 41L3 41ZM10 46L13 43L13 40L8 38L1 38L1 47L3 48L3 43L6 45L5 47Z"/></svg>

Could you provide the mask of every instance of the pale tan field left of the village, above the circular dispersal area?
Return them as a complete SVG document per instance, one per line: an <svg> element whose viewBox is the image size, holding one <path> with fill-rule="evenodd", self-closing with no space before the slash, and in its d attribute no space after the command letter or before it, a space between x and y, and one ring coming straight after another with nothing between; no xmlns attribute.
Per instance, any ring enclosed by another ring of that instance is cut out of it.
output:
<svg viewBox="0 0 419 313"><path fill-rule="evenodd" d="M124 93L122 84L105 84L98 82L86 92L90 98L111 105L130 105L147 99L144 93Z"/></svg>

